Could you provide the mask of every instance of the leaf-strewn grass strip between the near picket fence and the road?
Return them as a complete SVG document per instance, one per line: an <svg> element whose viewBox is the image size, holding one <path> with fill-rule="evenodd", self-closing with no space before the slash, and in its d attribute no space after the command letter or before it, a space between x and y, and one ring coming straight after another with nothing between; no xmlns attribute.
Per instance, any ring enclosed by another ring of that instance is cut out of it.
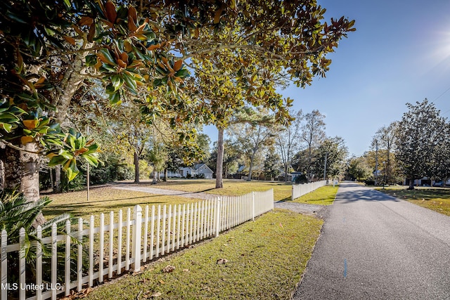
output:
<svg viewBox="0 0 450 300"><path fill-rule="evenodd" d="M290 299L323 221L264 214L212 240L94 289L86 299ZM219 264L219 259L226 263ZM162 271L174 266L172 273Z"/></svg>

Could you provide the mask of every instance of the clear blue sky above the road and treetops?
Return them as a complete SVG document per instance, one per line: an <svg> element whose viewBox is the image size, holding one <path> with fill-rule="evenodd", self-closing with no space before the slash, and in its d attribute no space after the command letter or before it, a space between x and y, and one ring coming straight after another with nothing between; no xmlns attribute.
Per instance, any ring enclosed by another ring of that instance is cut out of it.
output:
<svg viewBox="0 0 450 300"><path fill-rule="evenodd" d="M406 103L428 98L450 117L450 1L319 0L326 20L356 20L326 78L281 91L294 109L326 115L328 136L362 155L381 126L401 119ZM205 127L212 141L217 133Z"/></svg>

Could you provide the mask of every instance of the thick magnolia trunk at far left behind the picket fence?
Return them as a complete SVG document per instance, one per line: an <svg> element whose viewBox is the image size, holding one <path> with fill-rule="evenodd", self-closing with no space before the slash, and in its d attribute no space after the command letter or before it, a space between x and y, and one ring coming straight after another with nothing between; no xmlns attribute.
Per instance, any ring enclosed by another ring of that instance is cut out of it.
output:
<svg viewBox="0 0 450 300"><path fill-rule="evenodd" d="M0 160L4 162L4 188L18 189L29 202L39 200L39 155L31 152L39 150L38 143L20 145L24 150L15 150L6 146L0 154ZM44 216L39 214L33 223L36 228L45 223Z"/></svg>

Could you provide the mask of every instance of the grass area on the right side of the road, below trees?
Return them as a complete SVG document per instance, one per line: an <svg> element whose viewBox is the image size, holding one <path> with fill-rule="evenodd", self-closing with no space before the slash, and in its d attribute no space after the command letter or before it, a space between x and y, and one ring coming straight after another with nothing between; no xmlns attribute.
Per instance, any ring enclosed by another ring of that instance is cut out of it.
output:
<svg viewBox="0 0 450 300"><path fill-rule="evenodd" d="M377 188L377 190L450 216L450 188L414 188L414 190L407 190L404 186L396 186L385 188L385 190Z"/></svg>

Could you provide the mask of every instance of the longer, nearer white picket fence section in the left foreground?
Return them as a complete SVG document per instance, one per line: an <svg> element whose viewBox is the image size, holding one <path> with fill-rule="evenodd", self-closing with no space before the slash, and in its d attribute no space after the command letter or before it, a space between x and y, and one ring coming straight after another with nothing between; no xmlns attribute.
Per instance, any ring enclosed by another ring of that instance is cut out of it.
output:
<svg viewBox="0 0 450 300"><path fill-rule="evenodd" d="M42 244L51 247L51 258L44 258L39 243L34 243L34 247L30 248L37 257L34 262L35 282L26 282L26 274L31 270L24 255L25 230L20 230L18 244L7 244L8 235L3 230L0 244L0 299L13 297L40 300L56 299L58 295L68 296L71 289L81 291L85 287L92 287L94 282L101 283L105 278L113 278L124 271L140 270L141 263L206 237L217 237L221 231L255 219L255 216L272 209L274 190L268 190L191 204L146 206L144 209L136 205L132 215L131 209L127 209L125 220L120 210L116 223L115 214L111 211L108 225L105 225L104 214L99 217L98 227L94 226L94 216L89 219L87 228L84 228L82 219L76 226L67 221L67 234L58 234L56 224L53 224L51 235L42 237L42 230L38 228L37 236ZM72 255L75 250L75 258L71 256L71 249ZM86 259L89 263L84 266ZM8 260L15 261L14 266L9 266ZM43 263L51 269L50 275L44 274L46 279L43 277ZM11 282L11 276L8 277L8 272L12 272L13 268L19 270L16 282Z"/></svg>

